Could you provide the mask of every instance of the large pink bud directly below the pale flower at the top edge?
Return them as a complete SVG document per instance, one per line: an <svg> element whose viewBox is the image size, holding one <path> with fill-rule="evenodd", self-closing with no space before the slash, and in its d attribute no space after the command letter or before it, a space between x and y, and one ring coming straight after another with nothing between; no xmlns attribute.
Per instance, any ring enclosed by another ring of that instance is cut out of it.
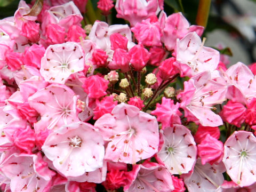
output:
<svg viewBox="0 0 256 192"><path fill-rule="evenodd" d="M159 22L150 22L150 19L142 20L131 28L136 39L145 46L161 46L161 31Z"/></svg>

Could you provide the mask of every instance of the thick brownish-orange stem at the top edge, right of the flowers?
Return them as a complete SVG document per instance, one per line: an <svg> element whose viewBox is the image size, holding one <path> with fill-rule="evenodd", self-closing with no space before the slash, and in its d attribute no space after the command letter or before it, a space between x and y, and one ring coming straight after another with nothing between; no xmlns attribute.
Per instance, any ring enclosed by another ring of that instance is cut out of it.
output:
<svg viewBox="0 0 256 192"><path fill-rule="evenodd" d="M206 28L209 12L210 12L211 0L200 0L196 15L196 24Z"/></svg>

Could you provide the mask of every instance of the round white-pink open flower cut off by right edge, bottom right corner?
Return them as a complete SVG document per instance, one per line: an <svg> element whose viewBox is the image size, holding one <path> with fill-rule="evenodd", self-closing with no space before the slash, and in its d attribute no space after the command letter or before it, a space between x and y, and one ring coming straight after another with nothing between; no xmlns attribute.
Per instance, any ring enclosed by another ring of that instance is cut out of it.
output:
<svg viewBox="0 0 256 192"><path fill-rule="evenodd" d="M247 131L235 131L224 144L223 162L227 173L240 187L256 181L255 146L255 136Z"/></svg>

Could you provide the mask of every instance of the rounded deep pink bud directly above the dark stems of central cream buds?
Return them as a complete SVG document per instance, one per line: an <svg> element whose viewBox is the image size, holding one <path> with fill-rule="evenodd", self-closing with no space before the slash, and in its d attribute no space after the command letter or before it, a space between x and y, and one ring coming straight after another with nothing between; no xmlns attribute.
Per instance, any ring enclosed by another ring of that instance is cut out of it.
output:
<svg viewBox="0 0 256 192"><path fill-rule="evenodd" d="M142 70L146 66L150 57L149 52L142 45L133 46L129 50L129 55L131 57L131 65L137 71Z"/></svg>

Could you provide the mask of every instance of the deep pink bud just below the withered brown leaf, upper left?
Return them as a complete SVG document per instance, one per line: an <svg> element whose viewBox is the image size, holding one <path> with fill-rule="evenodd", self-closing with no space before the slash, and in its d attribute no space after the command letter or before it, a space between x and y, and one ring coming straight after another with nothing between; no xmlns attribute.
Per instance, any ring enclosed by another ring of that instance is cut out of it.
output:
<svg viewBox="0 0 256 192"><path fill-rule="evenodd" d="M35 21L24 22L20 34L27 37L30 42L37 43L39 40L39 23Z"/></svg>

